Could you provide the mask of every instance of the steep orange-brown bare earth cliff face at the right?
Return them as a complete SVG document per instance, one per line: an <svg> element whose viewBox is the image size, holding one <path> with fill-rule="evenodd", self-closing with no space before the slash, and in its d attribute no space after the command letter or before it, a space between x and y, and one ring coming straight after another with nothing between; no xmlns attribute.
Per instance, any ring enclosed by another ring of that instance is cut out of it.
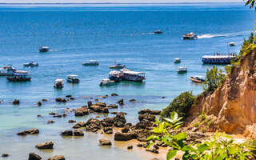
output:
<svg viewBox="0 0 256 160"><path fill-rule="evenodd" d="M191 122L199 114L214 115L215 130L228 134L255 133L256 123L256 50L242 58L226 81L214 93L202 94L190 110ZM252 127L250 127L252 126Z"/></svg>

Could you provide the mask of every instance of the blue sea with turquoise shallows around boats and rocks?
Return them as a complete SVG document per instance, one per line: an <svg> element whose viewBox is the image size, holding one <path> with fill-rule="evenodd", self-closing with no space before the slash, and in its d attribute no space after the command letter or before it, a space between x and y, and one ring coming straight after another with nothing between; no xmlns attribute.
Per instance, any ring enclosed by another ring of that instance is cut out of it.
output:
<svg viewBox="0 0 256 160"><path fill-rule="evenodd" d="M0 77L0 154L10 154L10 158L0 159L27 159L30 152L43 159L63 154L68 160L158 157L141 149L127 151L128 143L114 142L112 135L108 137L114 143L111 148L98 146L98 139L104 137L100 133L62 138L60 132L73 126L69 119L86 121L96 114L52 118L48 113L76 109L89 100L116 93L118 97L98 99L112 104L123 98L125 106L110 111L126 112L127 121L136 123L138 110L162 110L186 90L200 94L202 86L189 78L205 75L212 67L202 64L202 56L238 54L243 39L254 28L254 18L254 10L243 3L0 5L0 67L11 64L32 74L31 82L7 82ZM163 34L154 34L154 30ZM188 32L198 34L198 39L182 40L182 34ZM229 47L229 42L236 46ZM38 53L40 46L49 46L51 51ZM174 58L182 62L174 64ZM90 59L98 60L99 66L82 66ZM146 80L100 87L114 59L130 70L145 72ZM39 66L23 67L31 61ZM178 66L186 66L188 72L177 74ZM224 66L218 67L224 70ZM64 81L62 90L54 89L54 80L65 79L67 74L78 74L81 82L72 85ZM55 102L67 94L75 100ZM19 106L12 105L15 98L20 100ZM42 98L48 102L37 106ZM137 102L128 101L132 98ZM49 120L55 123L46 124ZM40 134L16 135L31 128L38 128ZM48 141L54 142L54 150L35 149L36 144Z"/></svg>

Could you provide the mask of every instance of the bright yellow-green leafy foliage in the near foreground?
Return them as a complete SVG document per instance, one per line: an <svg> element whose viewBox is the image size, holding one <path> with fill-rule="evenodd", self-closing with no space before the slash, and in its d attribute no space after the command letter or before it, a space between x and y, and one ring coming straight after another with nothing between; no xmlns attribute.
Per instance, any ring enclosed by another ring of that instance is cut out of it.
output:
<svg viewBox="0 0 256 160"><path fill-rule="evenodd" d="M234 139L230 136L222 133L220 135L216 132L212 138L212 141L206 141L194 144L186 145L187 134L181 132L178 134L171 134L170 130L176 130L181 126L182 122L179 122L182 118L178 118L178 114L171 113L170 118L163 118L163 122L159 122L156 119L155 124L157 127L154 130L154 135L147 138L150 141L149 148L156 141L164 142L167 146L173 148L166 154L166 159L170 160L174 158L178 150L183 152L182 159L198 159L198 160L226 160L226 159L249 159L254 157L251 150L255 150L255 146L250 142L235 143ZM203 129L202 129L203 130ZM204 129L205 130L205 129Z"/></svg>

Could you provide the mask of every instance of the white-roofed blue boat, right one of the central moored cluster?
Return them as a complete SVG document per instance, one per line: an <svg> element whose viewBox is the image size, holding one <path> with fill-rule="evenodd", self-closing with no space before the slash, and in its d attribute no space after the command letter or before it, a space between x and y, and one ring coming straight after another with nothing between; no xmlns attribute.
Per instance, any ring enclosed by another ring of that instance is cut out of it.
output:
<svg viewBox="0 0 256 160"><path fill-rule="evenodd" d="M142 82L145 80L144 72L134 72L132 70L120 70L121 76L123 80L126 81L134 81L134 82Z"/></svg>

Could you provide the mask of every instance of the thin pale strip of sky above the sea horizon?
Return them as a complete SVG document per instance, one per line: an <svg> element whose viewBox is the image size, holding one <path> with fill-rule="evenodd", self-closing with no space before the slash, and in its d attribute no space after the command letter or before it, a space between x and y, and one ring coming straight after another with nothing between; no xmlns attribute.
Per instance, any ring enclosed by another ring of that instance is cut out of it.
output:
<svg viewBox="0 0 256 160"><path fill-rule="evenodd" d="M243 2L243 0L0 0L0 3L162 3L162 2Z"/></svg>

